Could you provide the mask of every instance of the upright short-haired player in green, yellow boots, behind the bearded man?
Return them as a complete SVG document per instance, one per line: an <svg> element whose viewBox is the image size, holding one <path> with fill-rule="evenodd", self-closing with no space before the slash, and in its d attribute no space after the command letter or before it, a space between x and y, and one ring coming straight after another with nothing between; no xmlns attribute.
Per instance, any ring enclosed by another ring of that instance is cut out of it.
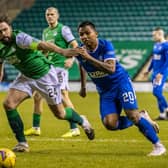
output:
<svg viewBox="0 0 168 168"><path fill-rule="evenodd" d="M78 46L75 37L73 36L70 28L58 22L59 12L57 8L49 7L46 9L45 17L48 27L43 31L43 40L56 44L61 48L76 48ZM61 83L62 101L65 108L73 108L74 106L68 95L68 68L73 65L74 58L66 58L59 53L49 52L46 53L47 58L54 62L56 68L62 71L59 74L59 81ZM33 126L24 131L25 135L40 135L40 120L42 113L42 97L38 92L33 96L34 98L34 112L33 112ZM76 123L70 122L70 130L63 134L61 137L69 138L80 135L80 130Z"/></svg>

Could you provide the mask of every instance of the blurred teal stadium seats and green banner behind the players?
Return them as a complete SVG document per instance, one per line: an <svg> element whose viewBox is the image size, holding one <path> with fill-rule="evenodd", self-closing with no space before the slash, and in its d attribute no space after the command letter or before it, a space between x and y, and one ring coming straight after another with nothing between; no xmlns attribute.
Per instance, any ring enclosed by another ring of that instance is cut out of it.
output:
<svg viewBox="0 0 168 168"><path fill-rule="evenodd" d="M15 29L21 29L41 39L42 30L47 27L45 10L55 6L60 11L60 22L71 27L78 39L77 25L91 20L97 26L99 37L113 42L116 55L129 72L135 89L149 91L149 79L143 78L143 71L149 63L152 50L151 32L163 27L167 32L168 1L166 0L1 0L1 12L12 18ZM5 65L5 76L0 90L8 89L8 83L15 79L18 71ZM78 87L79 72L74 63L70 69L70 87ZM74 85L75 84L75 85ZM142 87L144 85L145 87ZM89 85L90 86L90 85ZM94 90L93 86L89 87Z"/></svg>

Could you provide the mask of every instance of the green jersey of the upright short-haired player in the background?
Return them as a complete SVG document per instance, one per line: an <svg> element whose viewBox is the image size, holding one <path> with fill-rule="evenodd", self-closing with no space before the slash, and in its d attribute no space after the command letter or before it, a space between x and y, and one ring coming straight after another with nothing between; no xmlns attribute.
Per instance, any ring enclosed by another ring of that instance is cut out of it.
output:
<svg viewBox="0 0 168 168"><path fill-rule="evenodd" d="M68 45L75 38L68 26L58 23L56 27L48 27L43 31L43 40L52 42L61 48L68 48ZM65 60L67 59L58 53L48 53L48 59L54 62L55 67L64 67Z"/></svg>

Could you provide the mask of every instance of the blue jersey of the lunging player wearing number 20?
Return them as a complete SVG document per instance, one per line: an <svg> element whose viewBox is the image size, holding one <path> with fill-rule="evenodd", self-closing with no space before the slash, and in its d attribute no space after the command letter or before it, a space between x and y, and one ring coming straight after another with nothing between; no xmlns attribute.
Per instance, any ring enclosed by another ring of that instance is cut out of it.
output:
<svg viewBox="0 0 168 168"><path fill-rule="evenodd" d="M88 53L95 59L102 62L109 59L116 60L112 43L104 39L98 39L98 47L95 49L95 51L88 51ZM128 78L128 73L124 70L124 68L119 64L117 60L116 71L112 74L109 74L97 69L89 61L82 58L82 56L78 56L77 59L86 70L92 81L95 83L99 93L117 87L121 79Z"/></svg>

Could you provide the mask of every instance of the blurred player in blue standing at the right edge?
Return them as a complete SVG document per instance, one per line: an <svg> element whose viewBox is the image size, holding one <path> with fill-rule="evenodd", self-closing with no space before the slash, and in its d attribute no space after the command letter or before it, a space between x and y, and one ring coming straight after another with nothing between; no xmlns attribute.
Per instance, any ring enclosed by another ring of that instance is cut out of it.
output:
<svg viewBox="0 0 168 168"><path fill-rule="evenodd" d="M168 76L168 42L164 37L164 30L162 28L155 28L152 34L153 40L156 43L153 46L151 64L144 75L147 76L150 71L152 71L153 95L157 99L160 112L156 120L166 120L168 114L168 104L163 95L163 86Z"/></svg>

